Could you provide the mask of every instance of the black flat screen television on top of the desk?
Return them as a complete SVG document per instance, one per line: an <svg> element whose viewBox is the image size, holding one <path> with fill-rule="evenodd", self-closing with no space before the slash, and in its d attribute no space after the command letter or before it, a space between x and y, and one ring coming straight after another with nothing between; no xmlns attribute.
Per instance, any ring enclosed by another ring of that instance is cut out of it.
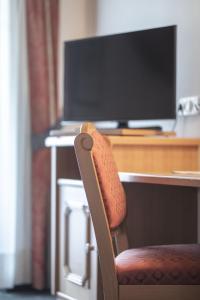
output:
<svg viewBox="0 0 200 300"><path fill-rule="evenodd" d="M65 42L64 121L176 117L176 26Z"/></svg>

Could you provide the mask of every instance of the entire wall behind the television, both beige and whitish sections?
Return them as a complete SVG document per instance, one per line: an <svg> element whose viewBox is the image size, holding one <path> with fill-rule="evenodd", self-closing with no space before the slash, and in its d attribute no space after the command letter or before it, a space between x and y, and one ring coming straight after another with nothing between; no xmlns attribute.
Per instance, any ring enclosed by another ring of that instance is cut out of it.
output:
<svg viewBox="0 0 200 300"><path fill-rule="evenodd" d="M177 24L177 99L200 95L200 0L60 0L59 99L65 40ZM173 124L162 122L164 129ZM157 124L156 124L157 125ZM177 133L200 136L200 115L178 118Z"/></svg>

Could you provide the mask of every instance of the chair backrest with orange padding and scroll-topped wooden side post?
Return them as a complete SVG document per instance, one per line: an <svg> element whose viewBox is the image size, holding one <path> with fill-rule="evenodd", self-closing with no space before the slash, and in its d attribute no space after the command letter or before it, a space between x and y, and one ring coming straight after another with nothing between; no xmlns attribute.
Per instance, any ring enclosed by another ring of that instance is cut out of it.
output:
<svg viewBox="0 0 200 300"><path fill-rule="evenodd" d="M75 152L93 220L104 291L117 290L112 232L119 237L119 249L127 248L120 225L126 215L126 198L119 180L112 148L107 138L86 123L75 139ZM110 288L113 286L113 289ZM108 297L109 299L109 297ZM117 299L110 295L110 299Z"/></svg>

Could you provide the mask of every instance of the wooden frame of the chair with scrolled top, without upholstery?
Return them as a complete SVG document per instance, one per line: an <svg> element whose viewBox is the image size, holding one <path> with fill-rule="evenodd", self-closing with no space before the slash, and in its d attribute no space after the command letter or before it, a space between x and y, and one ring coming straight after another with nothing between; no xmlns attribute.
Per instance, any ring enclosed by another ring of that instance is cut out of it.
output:
<svg viewBox="0 0 200 300"><path fill-rule="evenodd" d="M102 193L93 161L91 136L95 127L86 123L75 139L75 153L95 230L105 300L199 300L200 285L119 285L115 269L113 237L117 252L128 248L121 226L110 231Z"/></svg>

